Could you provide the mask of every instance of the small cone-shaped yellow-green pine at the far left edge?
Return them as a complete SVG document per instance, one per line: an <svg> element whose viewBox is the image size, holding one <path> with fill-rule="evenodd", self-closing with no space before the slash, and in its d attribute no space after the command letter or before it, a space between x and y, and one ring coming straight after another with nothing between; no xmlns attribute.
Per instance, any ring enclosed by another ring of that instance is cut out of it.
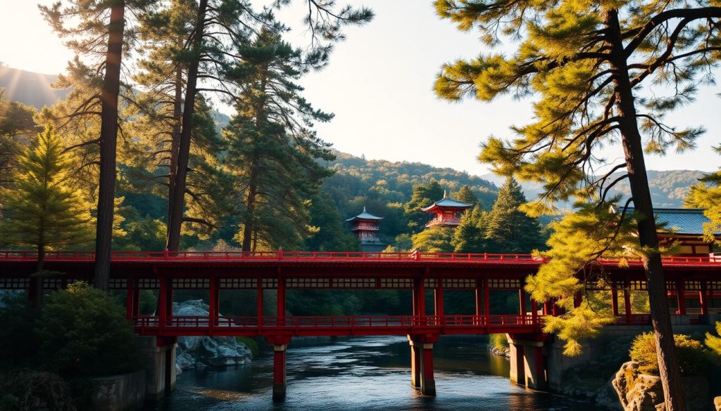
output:
<svg viewBox="0 0 721 411"><path fill-rule="evenodd" d="M92 241L91 206L68 185L72 167L61 140L48 129L37 135L35 148L27 148L19 158L12 188L0 191L0 242L37 250L35 304L42 295L45 251Z"/></svg>

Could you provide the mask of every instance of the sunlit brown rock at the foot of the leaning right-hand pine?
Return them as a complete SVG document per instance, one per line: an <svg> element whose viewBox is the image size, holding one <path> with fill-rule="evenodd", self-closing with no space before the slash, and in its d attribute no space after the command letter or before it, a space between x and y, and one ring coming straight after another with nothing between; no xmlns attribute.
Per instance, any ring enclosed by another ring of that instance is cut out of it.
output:
<svg viewBox="0 0 721 411"><path fill-rule="evenodd" d="M663 389L658 376L642 374L639 363L624 363L611 381L625 411L665 411ZM709 409L709 382L702 376L681 378L686 400L686 410Z"/></svg>

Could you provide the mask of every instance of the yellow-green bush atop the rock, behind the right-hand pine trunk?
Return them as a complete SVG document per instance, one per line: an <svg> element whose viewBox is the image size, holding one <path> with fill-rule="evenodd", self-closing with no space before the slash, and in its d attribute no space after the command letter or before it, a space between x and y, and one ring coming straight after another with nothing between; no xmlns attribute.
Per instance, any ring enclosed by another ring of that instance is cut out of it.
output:
<svg viewBox="0 0 721 411"><path fill-rule="evenodd" d="M717 356L699 341L683 334L673 335L673 340L676 343L676 358L681 375L707 374L717 364ZM630 354L631 359L640 364L641 372L658 375L656 340L653 333L638 335L631 345Z"/></svg>

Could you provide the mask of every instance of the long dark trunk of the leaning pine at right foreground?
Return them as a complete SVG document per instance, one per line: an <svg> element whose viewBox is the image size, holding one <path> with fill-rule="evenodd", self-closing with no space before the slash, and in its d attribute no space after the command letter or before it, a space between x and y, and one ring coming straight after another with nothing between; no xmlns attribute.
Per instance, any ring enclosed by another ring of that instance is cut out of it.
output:
<svg viewBox="0 0 721 411"><path fill-rule="evenodd" d="M631 195L638 219L638 235L642 248L649 250L644 258L644 269L648 284L648 302L651 310L658 371L663 385L663 396L668 411L684 410L684 392L681 389L676 345L673 341L671 316L668 311L666 284L663 276L661 256L658 252L658 234L653 216L653 203L648 188L648 176L643 158L641 134L638 131L633 90L629 81L627 57L624 53L619 17L616 10L608 12L606 30L611 43L611 66L616 89L616 109L621 117L622 143L626 156L626 167L631 186Z"/></svg>

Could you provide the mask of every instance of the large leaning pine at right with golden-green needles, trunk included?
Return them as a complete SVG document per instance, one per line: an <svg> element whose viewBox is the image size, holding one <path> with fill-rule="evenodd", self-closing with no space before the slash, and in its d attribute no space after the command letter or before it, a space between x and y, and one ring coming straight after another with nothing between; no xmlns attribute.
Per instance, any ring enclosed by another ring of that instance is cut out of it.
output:
<svg viewBox="0 0 721 411"><path fill-rule="evenodd" d="M529 212L548 212L554 201L570 197L603 204L609 189L628 179L638 213L665 405L669 411L681 410L683 393L644 152L692 148L703 131L676 130L665 125L663 115L692 101L700 81L712 81L710 68L721 57L721 6L717 1L640 0L436 0L435 6L460 30L478 28L488 45L504 42L504 36L520 40L513 55L485 54L443 66L435 90L452 100L538 97L535 121L514 127L518 137L510 142L491 138L480 157L497 173L544 184L544 193L527 207ZM667 90L656 87L668 83ZM642 88L652 90L653 99L645 98ZM597 155L613 141L621 143L622 162ZM627 172L611 178L622 168ZM605 224L621 224L617 218Z"/></svg>

